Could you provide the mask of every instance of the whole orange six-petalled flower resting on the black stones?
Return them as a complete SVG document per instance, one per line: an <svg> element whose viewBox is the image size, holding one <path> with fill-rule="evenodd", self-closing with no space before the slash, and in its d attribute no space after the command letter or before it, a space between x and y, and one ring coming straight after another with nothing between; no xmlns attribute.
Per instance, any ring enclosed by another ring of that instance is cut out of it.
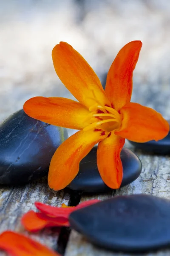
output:
<svg viewBox="0 0 170 256"><path fill-rule="evenodd" d="M160 113L130 103L133 70L141 47L141 41L132 41L119 51L108 71L105 91L94 70L71 45L60 42L54 47L56 73L79 102L34 97L23 107L35 119L80 130L65 140L51 159L48 184L52 189L71 183L79 172L79 162L96 143L102 180L117 189L123 176L120 152L125 138L143 143L168 134L169 124Z"/></svg>

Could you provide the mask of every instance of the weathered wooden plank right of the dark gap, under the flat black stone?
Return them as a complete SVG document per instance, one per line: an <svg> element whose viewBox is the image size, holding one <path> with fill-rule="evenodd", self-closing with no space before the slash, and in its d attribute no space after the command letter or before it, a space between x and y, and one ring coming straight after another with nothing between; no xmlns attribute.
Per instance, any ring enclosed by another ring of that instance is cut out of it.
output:
<svg viewBox="0 0 170 256"><path fill-rule="evenodd" d="M128 144L127 144L128 145ZM128 146L132 148L132 146ZM170 157L161 155L144 154L136 151L142 161L142 174L137 180L124 188L117 189L108 195L97 195L82 197L81 201L98 198L105 200L118 195L130 194L150 194L159 197L170 198ZM76 231L71 231L65 256L133 256L134 254L114 253L102 250L90 242ZM135 254L137 256L137 254ZM169 256L170 250L160 250L156 253L144 253L140 256Z"/></svg>

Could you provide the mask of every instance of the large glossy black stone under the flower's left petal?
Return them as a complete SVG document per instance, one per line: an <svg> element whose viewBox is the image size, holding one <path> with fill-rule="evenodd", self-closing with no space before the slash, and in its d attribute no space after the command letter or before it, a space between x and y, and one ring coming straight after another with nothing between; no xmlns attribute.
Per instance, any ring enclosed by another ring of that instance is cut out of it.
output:
<svg viewBox="0 0 170 256"><path fill-rule="evenodd" d="M47 175L51 157L68 137L20 110L0 126L0 184L23 184Z"/></svg>

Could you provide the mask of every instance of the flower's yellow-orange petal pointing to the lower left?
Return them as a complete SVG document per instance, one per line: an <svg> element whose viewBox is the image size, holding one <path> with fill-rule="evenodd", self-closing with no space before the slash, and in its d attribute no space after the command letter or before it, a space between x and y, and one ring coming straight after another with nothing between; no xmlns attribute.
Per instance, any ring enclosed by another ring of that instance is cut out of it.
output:
<svg viewBox="0 0 170 256"><path fill-rule="evenodd" d="M51 189L65 188L79 172L79 162L93 146L107 137L101 131L78 131L57 148L51 159L48 185Z"/></svg>

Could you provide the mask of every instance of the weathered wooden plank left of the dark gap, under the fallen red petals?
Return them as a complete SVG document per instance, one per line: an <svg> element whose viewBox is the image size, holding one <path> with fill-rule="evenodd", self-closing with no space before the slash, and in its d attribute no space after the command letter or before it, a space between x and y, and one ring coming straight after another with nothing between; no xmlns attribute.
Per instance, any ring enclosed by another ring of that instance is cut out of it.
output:
<svg viewBox="0 0 170 256"><path fill-rule="evenodd" d="M30 209L35 210L34 202L60 206L68 204L70 195L63 190L54 192L48 187L47 179L20 187L2 187L0 189L0 233L14 230L40 241L42 244L56 250L60 229L45 229L39 233L28 233L20 223L20 218ZM6 255L0 252L0 256Z"/></svg>

